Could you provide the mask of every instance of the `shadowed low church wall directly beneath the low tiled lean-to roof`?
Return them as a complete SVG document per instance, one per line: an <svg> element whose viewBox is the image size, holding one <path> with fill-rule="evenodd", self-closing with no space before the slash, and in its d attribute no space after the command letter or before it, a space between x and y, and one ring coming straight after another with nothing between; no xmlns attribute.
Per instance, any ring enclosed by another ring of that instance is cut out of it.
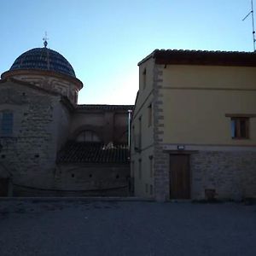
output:
<svg viewBox="0 0 256 256"><path fill-rule="evenodd" d="M129 177L129 164L63 164L56 168L55 188L77 195L127 196Z"/></svg>

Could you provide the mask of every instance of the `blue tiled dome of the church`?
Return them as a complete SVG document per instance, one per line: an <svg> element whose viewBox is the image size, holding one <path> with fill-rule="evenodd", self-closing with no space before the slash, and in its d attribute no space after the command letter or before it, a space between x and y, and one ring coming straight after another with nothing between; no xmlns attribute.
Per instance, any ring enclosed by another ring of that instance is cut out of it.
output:
<svg viewBox="0 0 256 256"><path fill-rule="evenodd" d="M48 48L34 48L20 55L9 70L17 69L49 70L76 77L70 63L61 54Z"/></svg>

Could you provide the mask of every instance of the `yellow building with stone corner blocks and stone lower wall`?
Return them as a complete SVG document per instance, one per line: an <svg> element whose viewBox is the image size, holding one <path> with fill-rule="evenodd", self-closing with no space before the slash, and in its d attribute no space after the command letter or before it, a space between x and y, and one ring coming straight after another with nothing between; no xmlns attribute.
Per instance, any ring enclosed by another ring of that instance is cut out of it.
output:
<svg viewBox="0 0 256 256"><path fill-rule="evenodd" d="M135 195L256 195L256 55L154 50L139 62L131 122Z"/></svg>

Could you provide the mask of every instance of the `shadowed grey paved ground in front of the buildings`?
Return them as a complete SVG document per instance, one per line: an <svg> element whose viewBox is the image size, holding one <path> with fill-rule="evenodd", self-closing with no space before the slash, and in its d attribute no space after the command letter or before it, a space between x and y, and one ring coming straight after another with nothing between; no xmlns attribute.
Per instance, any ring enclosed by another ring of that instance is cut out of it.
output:
<svg viewBox="0 0 256 256"><path fill-rule="evenodd" d="M0 201L0 255L256 255L256 206Z"/></svg>

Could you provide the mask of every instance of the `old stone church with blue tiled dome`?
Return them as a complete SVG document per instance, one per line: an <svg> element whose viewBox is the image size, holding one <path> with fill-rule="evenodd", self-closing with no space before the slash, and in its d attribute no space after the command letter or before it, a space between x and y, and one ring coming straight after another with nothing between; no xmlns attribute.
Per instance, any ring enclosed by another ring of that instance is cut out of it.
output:
<svg viewBox="0 0 256 256"><path fill-rule="evenodd" d="M128 195L128 110L78 105L55 50L30 49L0 80L0 196Z"/></svg>

